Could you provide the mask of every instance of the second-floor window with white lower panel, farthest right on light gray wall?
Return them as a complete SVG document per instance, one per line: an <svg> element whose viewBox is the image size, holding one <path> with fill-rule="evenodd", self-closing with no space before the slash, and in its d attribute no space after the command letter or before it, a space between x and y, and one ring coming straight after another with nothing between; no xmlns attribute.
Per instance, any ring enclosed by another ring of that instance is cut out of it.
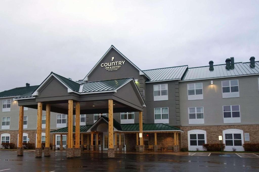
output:
<svg viewBox="0 0 259 172"><path fill-rule="evenodd" d="M224 123L241 123L239 105L223 106Z"/></svg>

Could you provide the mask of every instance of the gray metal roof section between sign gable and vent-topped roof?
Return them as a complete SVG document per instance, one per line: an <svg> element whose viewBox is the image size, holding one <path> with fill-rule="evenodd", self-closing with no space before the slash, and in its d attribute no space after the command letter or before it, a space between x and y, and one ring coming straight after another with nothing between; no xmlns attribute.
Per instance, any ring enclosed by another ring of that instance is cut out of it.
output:
<svg viewBox="0 0 259 172"><path fill-rule="evenodd" d="M143 71L150 80L147 82L152 81L165 81L165 80L175 80L181 79L185 70L188 68L187 65L185 66L176 66L176 67L168 67L168 68L160 68L160 69L149 69Z"/></svg>

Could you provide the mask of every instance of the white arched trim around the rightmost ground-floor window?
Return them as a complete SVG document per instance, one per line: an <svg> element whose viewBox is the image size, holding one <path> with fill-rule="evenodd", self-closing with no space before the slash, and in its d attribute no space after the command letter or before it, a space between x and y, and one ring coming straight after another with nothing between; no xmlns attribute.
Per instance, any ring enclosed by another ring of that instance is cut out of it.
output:
<svg viewBox="0 0 259 172"><path fill-rule="evenodd" d="M225 134L241 134L241 142L242 142L242 145L244 144L244 132L243 132L243 130L240 130L240 129L227 129L227 130L223 130L222 133L223 133L223 143L225 145L226 145ZM233 151L233 149L232 149L233 147L236 148L236 151L244 151L243 146L225 146L225 150L224 151Z"/></svg>

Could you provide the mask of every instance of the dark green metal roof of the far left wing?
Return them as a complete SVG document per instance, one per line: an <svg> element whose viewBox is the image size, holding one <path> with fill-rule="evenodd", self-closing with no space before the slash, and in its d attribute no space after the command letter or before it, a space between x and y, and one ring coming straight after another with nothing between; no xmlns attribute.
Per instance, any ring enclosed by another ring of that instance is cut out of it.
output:
<svg viewBox="0 0 259 172"><path fill-rule="evenodd" d="M21 96L33 92L37 87L38 85L14 88L11 90L0 92L0 97Z"/></svg>

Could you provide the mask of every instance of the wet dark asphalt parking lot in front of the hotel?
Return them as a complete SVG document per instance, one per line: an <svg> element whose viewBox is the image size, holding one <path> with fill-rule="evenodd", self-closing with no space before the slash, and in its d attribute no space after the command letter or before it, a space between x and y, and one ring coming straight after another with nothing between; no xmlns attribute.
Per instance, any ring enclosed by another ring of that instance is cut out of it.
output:
<svg viewBox="0 0 259 172"><path fill-rule="evenodd" d="M230 153L208 157L117 153L115 158L107 158L105 152L82 152L81 157L66 158L65 151L35 158L34 152L18 157L16 151L0 151L0 171L259 171L259 158Z"/></svg>

